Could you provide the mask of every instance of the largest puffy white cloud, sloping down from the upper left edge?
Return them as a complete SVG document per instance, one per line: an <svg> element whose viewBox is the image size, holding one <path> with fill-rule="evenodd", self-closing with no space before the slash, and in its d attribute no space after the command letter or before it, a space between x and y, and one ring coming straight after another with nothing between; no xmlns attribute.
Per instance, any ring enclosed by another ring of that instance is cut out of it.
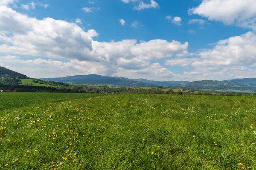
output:
<svg viewBox="0 0 256 170"><path fill-rule="evenodd" d="M92 56L92 37L75 23L44 18L37 20L0 6L0 51L42 57L101 60Z"/></svg>

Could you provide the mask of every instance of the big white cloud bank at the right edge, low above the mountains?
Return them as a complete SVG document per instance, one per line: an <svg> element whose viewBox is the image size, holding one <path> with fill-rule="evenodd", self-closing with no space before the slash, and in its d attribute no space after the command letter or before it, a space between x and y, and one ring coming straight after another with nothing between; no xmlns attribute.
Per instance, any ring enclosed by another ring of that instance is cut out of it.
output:
<svg viewBox="0 0 256 170"><path fill-rule="evenodd" d="M212 45L212 49L202 49L191 58L165 59L165 65L194 68L179 75L188 80L255 77L256 34L247 32Z"/></svg>

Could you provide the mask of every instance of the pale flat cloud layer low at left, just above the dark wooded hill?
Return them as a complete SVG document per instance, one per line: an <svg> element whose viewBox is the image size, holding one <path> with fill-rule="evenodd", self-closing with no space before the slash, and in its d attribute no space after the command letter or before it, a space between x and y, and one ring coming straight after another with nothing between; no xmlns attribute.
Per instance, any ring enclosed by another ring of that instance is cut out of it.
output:
<svg viewBox="0 0 256 170"><path fill-rule="evenodd" d="M72 59L69 62L41 58L22 60L20 57L8 55L0 56L0 60L3 60L3 65L19 65L19 67L12 66L10 69L34 78L66 77L78 74L104 75L108 69L100 62L79 61L76 59Z"/></svg>

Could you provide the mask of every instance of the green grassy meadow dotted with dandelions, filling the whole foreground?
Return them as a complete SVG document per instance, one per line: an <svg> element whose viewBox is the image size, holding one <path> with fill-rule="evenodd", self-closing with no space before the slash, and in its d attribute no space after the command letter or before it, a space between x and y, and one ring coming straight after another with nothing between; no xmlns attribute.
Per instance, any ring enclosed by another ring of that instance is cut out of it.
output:
<svg viewBox="0 0 256 170"><path fill-rule="evenodd" d="M256 98L0 94L0 169L256 169Z"/></svg>

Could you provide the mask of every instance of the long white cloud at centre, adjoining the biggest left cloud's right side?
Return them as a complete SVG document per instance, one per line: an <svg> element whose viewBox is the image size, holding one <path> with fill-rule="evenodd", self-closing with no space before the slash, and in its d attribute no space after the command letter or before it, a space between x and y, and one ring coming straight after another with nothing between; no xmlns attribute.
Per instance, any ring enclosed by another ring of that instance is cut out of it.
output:
<svg viewBox="0 0 256 170"><path fill-rule="evenodd" d="M122 40L119 42L97 42L93 41L93 49L98 56L106 59L125 58L143 59L145 61L160 60L174 55L188 55L188 42L181 44L177 41L150 40L137 43L137 40Z"/></svg>

